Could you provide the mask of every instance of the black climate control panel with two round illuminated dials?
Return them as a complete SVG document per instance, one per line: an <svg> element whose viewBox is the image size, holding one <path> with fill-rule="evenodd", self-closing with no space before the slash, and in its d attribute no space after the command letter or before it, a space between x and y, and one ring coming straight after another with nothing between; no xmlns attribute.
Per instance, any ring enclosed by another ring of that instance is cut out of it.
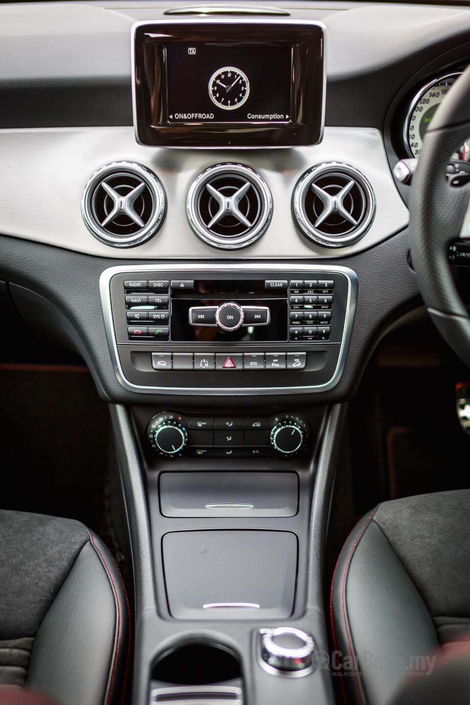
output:
<svg viewBox="0 0 470 705"><path fill-rule="evenodd" d="M184 416L167 411L147 425L149 446L161 458L294 458L309 444L303 416Z"/></svg>

